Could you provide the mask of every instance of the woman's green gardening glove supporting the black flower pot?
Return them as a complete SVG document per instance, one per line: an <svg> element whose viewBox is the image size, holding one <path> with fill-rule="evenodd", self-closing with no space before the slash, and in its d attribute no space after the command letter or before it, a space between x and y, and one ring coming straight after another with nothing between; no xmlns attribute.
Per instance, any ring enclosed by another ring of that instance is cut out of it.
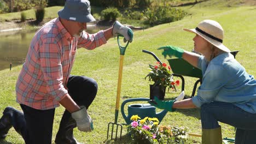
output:
<svg viewBox="0 0 256 144"><path fill-rule="evenodd" d="M159 100L158 97L154 97L154 101L148 101L150 105L158 107L159 109L165 109L167 111L173 112L175 109L172 109L172 105L176 100Z"/></svg>

